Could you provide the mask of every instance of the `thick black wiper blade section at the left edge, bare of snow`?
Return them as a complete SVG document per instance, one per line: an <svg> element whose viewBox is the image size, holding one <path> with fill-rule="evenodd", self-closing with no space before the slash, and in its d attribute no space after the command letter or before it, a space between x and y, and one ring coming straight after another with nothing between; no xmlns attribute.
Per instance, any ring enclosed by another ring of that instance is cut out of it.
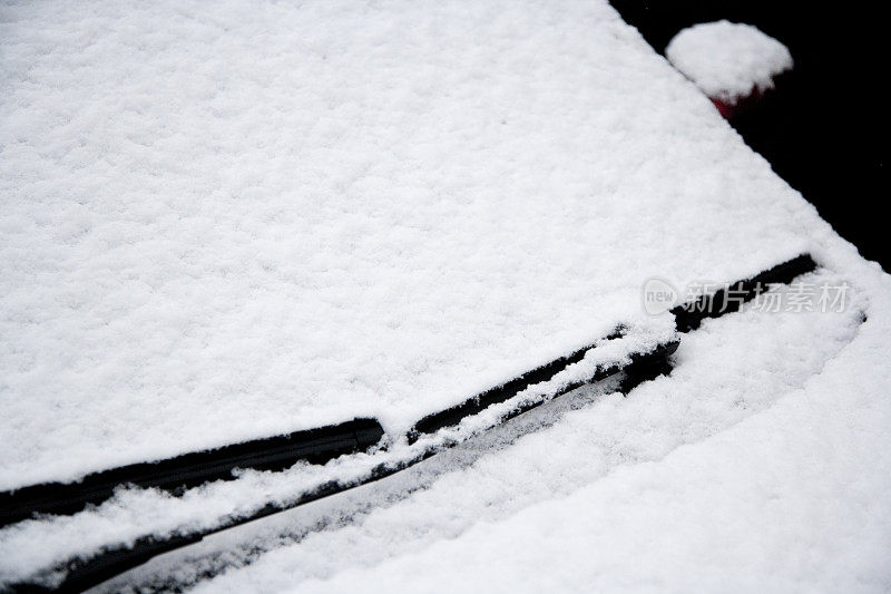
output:
<svg viewBox="0 0 891 594"><path fill-rule="evenodd" d="M378 444L383 428L374 419L255 439L156 462L139 462L87 475L78 483L47 483L0 493L0 527L36 514L74 514L100 504L120 485L178 493L212 480L231 480L235 468L283 470L298 460L324 464Z"/></svg>

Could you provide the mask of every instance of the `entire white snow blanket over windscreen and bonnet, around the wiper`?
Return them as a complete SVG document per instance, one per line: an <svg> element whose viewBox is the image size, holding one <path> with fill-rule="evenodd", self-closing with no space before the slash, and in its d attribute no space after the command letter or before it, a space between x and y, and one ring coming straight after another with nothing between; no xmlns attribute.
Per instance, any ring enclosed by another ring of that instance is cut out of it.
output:
<svg viewBox="0 0 891 594"><path fill-rule="evenodd" d="M809 251L853 288L708 321L627 399L567 395L110 590L249 561L204 587L891 585L891 279L605 2L29 2L0 27L3 488L355 413L396 431L659 328L650 275ZM366 458L9 526L0 582Z"/></svg>

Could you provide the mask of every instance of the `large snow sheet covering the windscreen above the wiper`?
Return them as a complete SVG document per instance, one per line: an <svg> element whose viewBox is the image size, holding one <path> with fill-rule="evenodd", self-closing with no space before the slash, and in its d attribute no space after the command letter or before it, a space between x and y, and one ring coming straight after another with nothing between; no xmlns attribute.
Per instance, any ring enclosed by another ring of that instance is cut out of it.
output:
<svg viewBox="0 0 891 594"><path fill-rule="evenodd" d="M603 1L1 10L2 489L398 436L652 323L649 276L810 247L810 207Z"/></svg>

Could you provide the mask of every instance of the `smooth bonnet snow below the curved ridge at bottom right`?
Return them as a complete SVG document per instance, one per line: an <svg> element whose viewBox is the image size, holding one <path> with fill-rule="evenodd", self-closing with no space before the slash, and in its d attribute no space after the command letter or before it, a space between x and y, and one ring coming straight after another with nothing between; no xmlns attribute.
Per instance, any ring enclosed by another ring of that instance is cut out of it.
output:
<svg viewBox="0 0 891 594"><path fill-rule="evenodd" d="M623 468L565 499L295 590L361 583L369 591L444 592L448 583L449 591L497 592L887 592L891 416L877 396L887 393L889 377L863 356L879 345L887 354L888 347L864 331L862 347L770 415L658 464ZM868 379L856 381L858 373ZM301 556L287 553L204 590L229 591L248 576L260 580L254 587L287 590L282 576L301 571L286 565Z"/></svg>

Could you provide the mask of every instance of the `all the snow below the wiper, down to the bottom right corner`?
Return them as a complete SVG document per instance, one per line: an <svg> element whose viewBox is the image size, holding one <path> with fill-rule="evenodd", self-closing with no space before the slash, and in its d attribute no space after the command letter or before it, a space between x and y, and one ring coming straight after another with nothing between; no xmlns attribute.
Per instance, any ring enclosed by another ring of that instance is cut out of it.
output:
<svg viewBox="0 0 891 594"><path fill-rule="evenodd" d="M582 389L544 429L502 428L107 590L228 566L196 592L887 591L891 378L871 368L889 320L860 321L888 302L864 296L708 320L627 399Z"/></svg>

